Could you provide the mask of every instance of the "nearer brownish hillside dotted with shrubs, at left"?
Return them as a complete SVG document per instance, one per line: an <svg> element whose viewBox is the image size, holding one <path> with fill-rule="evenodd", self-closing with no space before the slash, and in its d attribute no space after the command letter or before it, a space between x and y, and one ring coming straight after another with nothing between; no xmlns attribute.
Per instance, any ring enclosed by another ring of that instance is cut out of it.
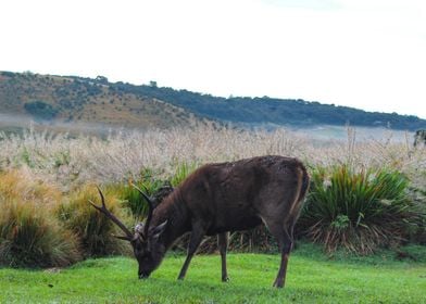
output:
<svg viewBox="0 0 426 304"><path fill-rule="evenodd" d="M166 128L208 122L155 98L117 91L100 79L2 72L0 114L17 115L18 119L29 116L36 122L129 128Z"/></svg>

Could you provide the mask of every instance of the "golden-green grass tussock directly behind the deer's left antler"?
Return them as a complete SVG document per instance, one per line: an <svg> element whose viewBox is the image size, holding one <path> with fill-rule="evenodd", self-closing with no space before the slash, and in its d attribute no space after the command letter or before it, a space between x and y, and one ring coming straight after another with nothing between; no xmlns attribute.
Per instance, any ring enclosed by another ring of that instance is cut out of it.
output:
<svg viewBox="0 0 426 304"><path fill-rule="evenodd" d="M104 194L108 208L124 223L130 223L131 220L121 207L121 201L111 192ZM64 227L77 236L85 257L127 253L127 244L114 237L114 235L120 236L122 231L109 218L95 210L89 201L101 205L95 187L82 188L60 204L55 211Z"/></svg>

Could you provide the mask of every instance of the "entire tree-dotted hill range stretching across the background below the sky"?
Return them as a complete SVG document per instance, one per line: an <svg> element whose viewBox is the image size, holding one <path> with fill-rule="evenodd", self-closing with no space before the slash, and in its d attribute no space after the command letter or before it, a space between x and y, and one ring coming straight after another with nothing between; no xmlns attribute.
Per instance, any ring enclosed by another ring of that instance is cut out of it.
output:
<svg viewBox="0 0 426 304"><path fill-rule="evenodd" d="M220 98L151 85L135 86L76 76L0 74L0 114L36 119L90 122L122 127L171 127L206 122L249 126L336 125L415 130L426 121L413 115L365 112L293 99Z"/></svg>

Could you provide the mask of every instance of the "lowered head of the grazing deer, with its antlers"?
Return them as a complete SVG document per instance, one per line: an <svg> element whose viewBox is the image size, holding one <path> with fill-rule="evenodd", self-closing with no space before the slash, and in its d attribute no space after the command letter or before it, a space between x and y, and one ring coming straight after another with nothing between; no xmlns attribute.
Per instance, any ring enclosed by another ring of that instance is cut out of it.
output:
<svg viewBox="0 0 426 304"><path fill-rule="evenodd" d="M145 279L148 278L156 267L159 267L161 261L164 257L166 249L163 243L159 242L159 238L164 232L167 226L167 220L158 226L150 227L154 210L153 203L151 199L138 187L136 187L135 185L131 186L142 194L142 197L147 200L149 206L147 220L145 223L139 223L138 225L136 225L134 233L131 233L127 229L127 227L106 208L105 199L99 187L97 188L101 197L102 205L98 206L92 201L89 202L95 208L103 213L108 218L110 218L123 230L125 236L115 237L121 240L130 242L135 257L139 264L138 277L139 279Z"/></svg>

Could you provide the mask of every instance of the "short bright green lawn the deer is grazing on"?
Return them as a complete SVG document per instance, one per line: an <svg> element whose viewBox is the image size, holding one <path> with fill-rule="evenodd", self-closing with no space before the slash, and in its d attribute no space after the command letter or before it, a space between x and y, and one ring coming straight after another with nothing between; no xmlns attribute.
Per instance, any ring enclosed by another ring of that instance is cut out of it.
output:
<svg viewBox="0 0 426 304"><path fill-rule="evenodd" d="M148 280L128 257L88 259L60 271L0 269L0 303L426 303L425 248L419 262L384 253L333 259L303 244L290 257L285 289L272 288L278 255L229 254L230 281L220 256L196 256L185 281L183 255L168 255Z"/></svg>

